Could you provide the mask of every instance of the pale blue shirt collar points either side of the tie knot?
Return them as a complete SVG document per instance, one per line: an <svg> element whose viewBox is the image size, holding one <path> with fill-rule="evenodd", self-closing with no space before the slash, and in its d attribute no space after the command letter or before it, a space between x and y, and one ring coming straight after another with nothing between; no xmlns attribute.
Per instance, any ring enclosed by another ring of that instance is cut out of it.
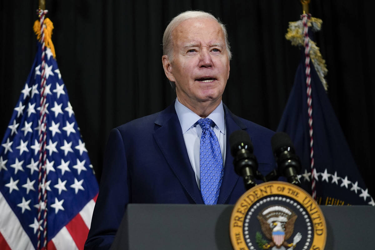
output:
<svg viewBox="0 0 375 250"><path fill-rule="evenodd" d="M176 109L178 120L180 120L183 134L187 130L189 130L190 127L192 127L199 119L201 119L199 115L195 114L185 105L180 103L177 98L176 102L174 103L174 108ZM207 118L210 118L216 124L220 132L225 135L225 116L222 101L220 102L219 106L217 106L216 109L214 109L214 111L212 111L211 114L207 116Z"/></svg>

